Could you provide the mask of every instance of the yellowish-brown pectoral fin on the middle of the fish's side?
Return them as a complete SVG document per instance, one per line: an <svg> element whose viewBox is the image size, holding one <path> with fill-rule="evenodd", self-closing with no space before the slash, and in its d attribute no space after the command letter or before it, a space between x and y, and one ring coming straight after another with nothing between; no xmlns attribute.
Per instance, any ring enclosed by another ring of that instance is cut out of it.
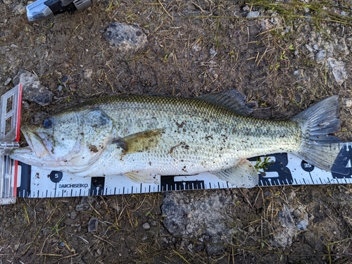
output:
<svg viewBox="0 0 352 264"><path fill-rule="evenodd" d="M161 139L162 129L146 130L130 134L122 139L114 139L113 144L118 144L124 150L124 154L144 152L153 149Z"/></svg>

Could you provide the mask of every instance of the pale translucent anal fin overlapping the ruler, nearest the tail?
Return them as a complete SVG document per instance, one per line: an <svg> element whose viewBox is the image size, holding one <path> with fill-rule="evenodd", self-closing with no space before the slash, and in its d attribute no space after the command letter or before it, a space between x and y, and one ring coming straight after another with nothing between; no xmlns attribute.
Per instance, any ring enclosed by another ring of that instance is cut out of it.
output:
<svg viewBox="0 0 352 264"><path fill-rule="evenodd" d="M247 160L226 170L210 173L237 187L252 188L258 184L258 172Z"/></svg>

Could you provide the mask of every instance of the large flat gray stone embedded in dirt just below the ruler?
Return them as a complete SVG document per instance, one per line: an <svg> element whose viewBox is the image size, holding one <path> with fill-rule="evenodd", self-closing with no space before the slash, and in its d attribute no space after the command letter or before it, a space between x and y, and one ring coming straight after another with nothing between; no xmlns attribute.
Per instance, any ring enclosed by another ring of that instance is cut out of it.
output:
<svg viewBox="0 0 352 264"><path fill-rule="evenodd" d="M221 253L223 244L231 243L234 220L224 211L233 206L232 196L225 190L199 192L167 192L161 210L166 217L163 225L177 237L209 241L205 249L210 255ZM190 240L184 239L182 246L189 249ZM215 245L216 244L216 245Z"/></svg>

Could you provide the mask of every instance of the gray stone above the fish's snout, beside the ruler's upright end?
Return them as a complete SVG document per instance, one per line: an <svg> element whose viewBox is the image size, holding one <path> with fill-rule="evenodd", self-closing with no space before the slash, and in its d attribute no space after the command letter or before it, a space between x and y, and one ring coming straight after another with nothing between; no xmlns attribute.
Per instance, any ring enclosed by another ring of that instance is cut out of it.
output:
<svg viewBox="0 0 352 264"><path fill-rule="evenodd" d="M40 84L37 75L20 69L13 78L13 84L23 84L23 99L47 106L53 100L53 93Z"/></svg>

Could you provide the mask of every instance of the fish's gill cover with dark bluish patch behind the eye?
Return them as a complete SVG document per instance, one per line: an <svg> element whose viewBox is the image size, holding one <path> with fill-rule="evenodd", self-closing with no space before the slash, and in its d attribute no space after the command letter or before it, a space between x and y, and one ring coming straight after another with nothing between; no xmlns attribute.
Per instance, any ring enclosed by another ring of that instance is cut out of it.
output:
<svg viewBox="0 0 352 264"><path fill-rule="evenodd" d="M85 122L87 121L87 122ZM99 153L108 143L113 130L113 121L100 109L90 109L82 123L84 141L91 152Z"/></svg>

